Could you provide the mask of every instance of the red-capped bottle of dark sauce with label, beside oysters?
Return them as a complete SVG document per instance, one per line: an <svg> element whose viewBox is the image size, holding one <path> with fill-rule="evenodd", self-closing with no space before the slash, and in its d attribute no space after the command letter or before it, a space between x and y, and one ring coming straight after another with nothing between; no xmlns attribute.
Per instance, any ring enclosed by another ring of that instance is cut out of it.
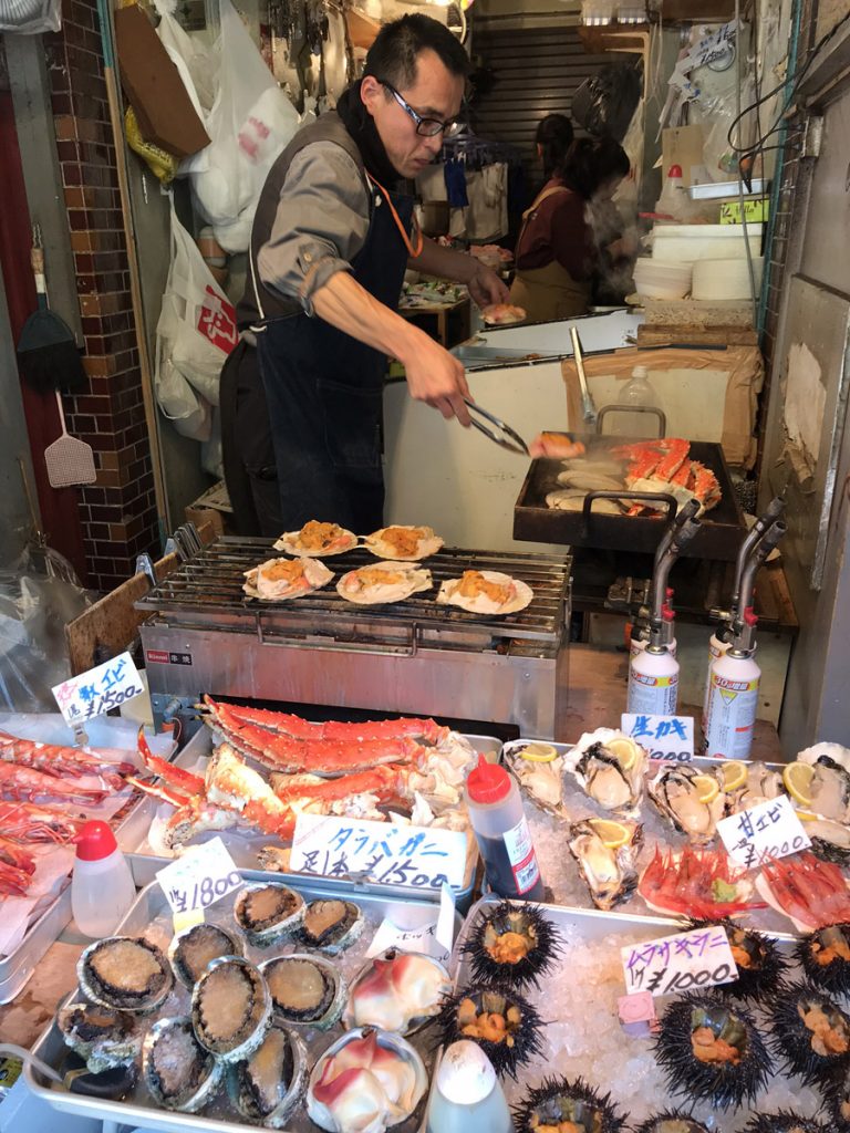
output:
<svg viewBox="0 0 850 1133"><path fill-rule="evenodd" d="M504 767L481 756L466 782L466 803L494 892L503 897L543 901L541 870L516 780Z"/></svg>

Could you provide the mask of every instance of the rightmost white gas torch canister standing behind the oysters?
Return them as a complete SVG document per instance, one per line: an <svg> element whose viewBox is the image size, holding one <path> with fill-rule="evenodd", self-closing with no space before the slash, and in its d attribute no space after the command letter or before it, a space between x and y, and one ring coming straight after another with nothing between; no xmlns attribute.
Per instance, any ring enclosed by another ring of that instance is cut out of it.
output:
<svg viewBox="0 0 850 1133"><path fill-rule="evenodd" d="M731 648L712 662L705 736L709 759L749 758L760 680L751 650Z"/></svg>

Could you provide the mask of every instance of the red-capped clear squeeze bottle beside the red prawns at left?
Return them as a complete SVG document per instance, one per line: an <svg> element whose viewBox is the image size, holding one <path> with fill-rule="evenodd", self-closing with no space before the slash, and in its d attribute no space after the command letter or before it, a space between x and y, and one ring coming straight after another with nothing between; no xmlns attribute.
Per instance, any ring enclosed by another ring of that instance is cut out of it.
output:
<svg viewBox="0 0 850 1133"><path fill-rule="evenodd" d="M97 940L118 928L136 898L136 885L107 823L86 823L76 842L71 911L79 931Z"/></svg>

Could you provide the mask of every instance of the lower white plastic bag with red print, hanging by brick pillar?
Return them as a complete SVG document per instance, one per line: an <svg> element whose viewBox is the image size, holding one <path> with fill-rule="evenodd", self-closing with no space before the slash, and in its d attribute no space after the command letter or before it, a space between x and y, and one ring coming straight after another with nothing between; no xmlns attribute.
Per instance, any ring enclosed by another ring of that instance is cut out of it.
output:
<svg viewBox="0 0 850 1133"><path fill-rule="evenodd" d="M236 310L172 203L171 266L156 324L155 386L162 411L185 436L209 440L221 367L238 340Z"/></svg>

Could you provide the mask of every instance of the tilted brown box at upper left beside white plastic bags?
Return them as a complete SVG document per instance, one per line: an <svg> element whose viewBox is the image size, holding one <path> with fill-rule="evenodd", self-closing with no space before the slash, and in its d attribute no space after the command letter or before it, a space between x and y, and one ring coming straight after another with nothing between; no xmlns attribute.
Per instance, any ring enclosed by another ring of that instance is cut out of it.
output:
<svg viewBox="0 0 850 1133"><path fill-rule="evenodd" d="M118 8L114 20L121 86L142 137L175 157L188 157L210 145L180 73L142 8L135 3Z"/></svg>

